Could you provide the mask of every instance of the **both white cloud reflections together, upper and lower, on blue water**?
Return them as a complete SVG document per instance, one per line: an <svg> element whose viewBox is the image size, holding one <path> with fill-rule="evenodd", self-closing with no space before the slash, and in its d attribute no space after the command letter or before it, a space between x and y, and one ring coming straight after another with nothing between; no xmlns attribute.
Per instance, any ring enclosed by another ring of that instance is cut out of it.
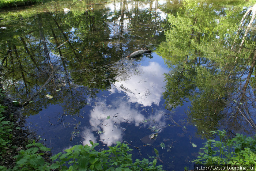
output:
<svg viewBox="0 0 256 171"><path fill-rule="evenodd" d="M146 108L141 108L153 104L159 106L164 91L163 73L166 72L166 68L153 61L148 62L146 66L140 66L139 70L139 73L133 74L127 80L119 79L115 82L109 90L111 94L108 101L105 98L99 98L97 105L90 111L90 128L84 128L82 134L84 145L90 144L90 140L96 142L93 132L98 131L104 132L99 134L99 140L103 144L110 146L116 141L122 141L125 129L121 127L121 123L146 126L152 123L143 121L154 118L154 125L158 125L158 127L165 125L163 112L155 110L151 113L151 110L147 111L144 110ZM118 94L118 96L115 97L114 94ZM134 107L133 103L142 105ZM147 111L147 116L144 116L142 111ZM109 119L107 119L108 116ZM161 132L161 129L159 131Z"/></svg>

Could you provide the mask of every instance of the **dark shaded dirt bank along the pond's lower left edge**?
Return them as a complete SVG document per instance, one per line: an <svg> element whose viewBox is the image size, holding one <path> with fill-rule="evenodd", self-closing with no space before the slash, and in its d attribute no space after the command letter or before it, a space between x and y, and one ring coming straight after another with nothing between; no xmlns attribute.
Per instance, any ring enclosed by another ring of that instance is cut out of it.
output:
<svg viewBox="0 0 256 171"><path fill-rule="evenodd" d="M3 89L2 89L3 90ZM3 92L0 92L3 94ZM5 152L1 154L2 159L0 160L0 166L4 166L6 168L13 168L15 166L16 159L14 156L18 155L20 150L28 149L26 147L27 144L30 144L32 140L39 141L38 136L33 132L33 130L29 130L25 128L25 116L22 115L19 111L20 107L14 106L7 96L1 96L0 104L2 106L6 106L5 111L2 113L5 121L10 121L13 123L13 129L10 132L12 135L11 142L5 145ZM21 129L16 129L16 128ZM41 153L42 151L38 151ZM50 152L44 152L42 157L48 163L51 163Z"/></svg>

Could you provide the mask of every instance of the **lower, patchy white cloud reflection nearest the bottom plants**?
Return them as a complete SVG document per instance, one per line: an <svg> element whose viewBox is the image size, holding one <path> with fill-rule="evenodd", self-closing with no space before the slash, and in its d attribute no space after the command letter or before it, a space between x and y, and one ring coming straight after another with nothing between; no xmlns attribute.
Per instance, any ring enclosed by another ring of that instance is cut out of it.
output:
<svg viewBox="0 0 256 171"><path fill-rule="evenodd" d="M100 100L97 106L90 113L90 129L85 128L83 131L83 145L90 145L89 140L96 142L93 132L104 132L99 134L99 140L108 146L116 141L122 141L125 129L121 128L121 123L131 123L135 126L140 124L144 126L155 126L160 128L165 126L163 113L155 111L149 118L154 119L154 122L144 123L145 118L138 109L133 109L131 102L127 102L124 97L115 98L112 100L112 105L106 104L106 100ZM110 118L108 119L108 116ZM161 131L161 130L160 130Z"/></svg>

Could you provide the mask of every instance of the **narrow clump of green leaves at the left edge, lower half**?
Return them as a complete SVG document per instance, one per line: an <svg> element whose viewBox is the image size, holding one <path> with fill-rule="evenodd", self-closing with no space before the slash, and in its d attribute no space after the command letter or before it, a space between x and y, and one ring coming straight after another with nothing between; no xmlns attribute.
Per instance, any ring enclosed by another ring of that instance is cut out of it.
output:
<svg viewBox="0 0 256 171"><path fill-rule="evenodd" d="M6 107L0 104L0 159L5 149L8 148L8 143L11 142L11 131L13 124L10 121L5 121L3 117L3 112Z"/></svg>

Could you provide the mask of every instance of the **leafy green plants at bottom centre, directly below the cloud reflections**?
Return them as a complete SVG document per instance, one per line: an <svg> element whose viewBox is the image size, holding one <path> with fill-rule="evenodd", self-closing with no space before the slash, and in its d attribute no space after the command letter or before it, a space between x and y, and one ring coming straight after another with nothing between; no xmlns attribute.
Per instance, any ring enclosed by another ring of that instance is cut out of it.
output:
<svg viewBox="0 0 256 171"><path fill-rule="evenodd" d="M132 155L128 154L132 149L127 144L117 142L116 146L99 152L94 149L97 145L93 142L91 147L75 145L66 149L66 153L54 155L52 160L56 160L55 166L61 170L162 170L162 166L155 167L156 161L136 159L132 163Z"/></svg>

